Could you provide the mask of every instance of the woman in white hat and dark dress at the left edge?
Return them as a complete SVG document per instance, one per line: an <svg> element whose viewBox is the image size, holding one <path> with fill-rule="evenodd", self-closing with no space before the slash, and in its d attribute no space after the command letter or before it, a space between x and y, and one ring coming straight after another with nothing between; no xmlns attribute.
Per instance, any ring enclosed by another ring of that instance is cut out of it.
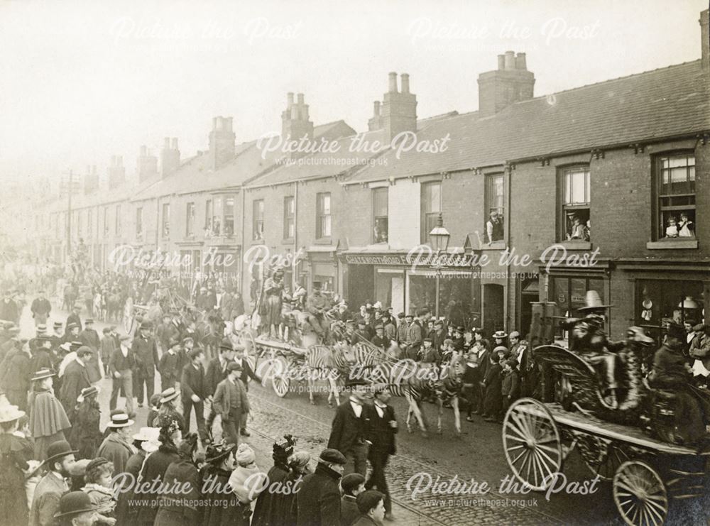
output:
<svg viewBox="0 0 710 526"><path fill-rule="evenodd" d="M0 510L2 524L25 526L28 522L25 475L32 459L32 445L18 436L18 420L25 415L16 405L0 405Z"/></svg>

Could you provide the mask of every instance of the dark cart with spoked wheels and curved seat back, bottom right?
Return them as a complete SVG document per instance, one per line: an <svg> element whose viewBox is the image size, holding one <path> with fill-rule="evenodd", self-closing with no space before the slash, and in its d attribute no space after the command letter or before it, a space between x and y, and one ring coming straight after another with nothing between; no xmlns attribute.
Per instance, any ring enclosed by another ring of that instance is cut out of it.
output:
<svg viewBox="0 0 710 526"><path fill-rule="evenodd" d="M575 395L605 410L594 371L579 356L557 346L537 347L535 356L551 361ZM611 481L614 503L628 525L662 525L671 499L705 492L707 449L662 442L638 426L572 412L559 403L522 398L508 408L506 460L515 478L532 490L550 486L575 446L593 473Z"/></svg>

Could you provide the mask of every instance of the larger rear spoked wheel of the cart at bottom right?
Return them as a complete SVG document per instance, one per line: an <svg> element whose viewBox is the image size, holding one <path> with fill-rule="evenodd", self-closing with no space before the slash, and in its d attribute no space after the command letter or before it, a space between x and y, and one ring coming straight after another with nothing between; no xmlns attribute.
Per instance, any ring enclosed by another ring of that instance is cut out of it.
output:
<svg viewBox="0 0 710 526"><path fill-rule="evenodd" d="M533 490L545 490L554 479L551 475L562 471L562 439L555 419L532 398L521 398L508 408L503 449L515 478Z"/></svg>

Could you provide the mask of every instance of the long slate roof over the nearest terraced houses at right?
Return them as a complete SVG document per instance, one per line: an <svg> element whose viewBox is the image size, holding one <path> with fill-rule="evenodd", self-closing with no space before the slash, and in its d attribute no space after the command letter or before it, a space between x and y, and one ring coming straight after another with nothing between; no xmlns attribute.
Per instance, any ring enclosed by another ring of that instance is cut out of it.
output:
<svg viewBox="0 0 710 526"><path fill-rule="evenodd" d="M386 155L347 182L427 175L547 157L710 129L710 82L701 61L517 102L493 116L478 111L432 121L417 138L450 134L442 153ZM383 158L384 159L384 158Z"/></svg>

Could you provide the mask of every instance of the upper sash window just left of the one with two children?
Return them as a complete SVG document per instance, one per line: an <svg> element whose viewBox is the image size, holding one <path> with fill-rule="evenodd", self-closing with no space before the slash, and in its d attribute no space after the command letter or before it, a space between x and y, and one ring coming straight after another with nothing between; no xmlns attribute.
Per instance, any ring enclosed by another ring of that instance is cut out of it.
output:
<svg viewBox="0 0 710 526"><path fill-rule="evenodd" d="M589 210L591 176L588 166L566 168L560 174L559 241L591 241Z"/></svg>

